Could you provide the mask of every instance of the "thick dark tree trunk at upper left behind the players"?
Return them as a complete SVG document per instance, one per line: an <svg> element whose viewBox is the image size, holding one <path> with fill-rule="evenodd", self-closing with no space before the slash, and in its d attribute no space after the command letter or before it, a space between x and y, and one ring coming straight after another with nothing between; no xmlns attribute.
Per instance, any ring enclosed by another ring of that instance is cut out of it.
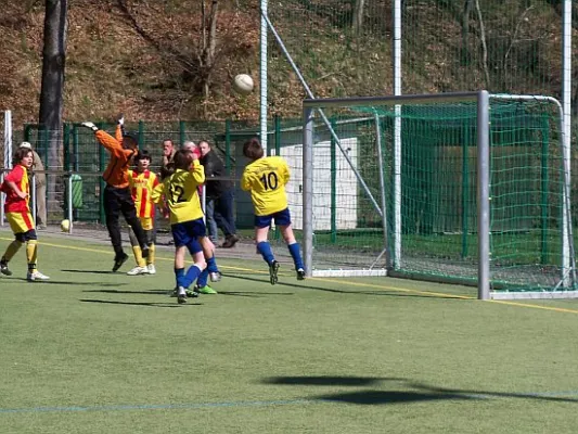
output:
<svg viewBox="0 0 578 434"><path fill-rule="evenodd" d="M42 87L38 123L46 130L48 142L47 170L60 169L64 90L64 64L66 54L67 0L46 0L44 47L42 50ZM56 177L47 177L49 200L55 197ZM51 201L47 201L49 209ZM46 224L46 222L44 222Z"/></svg>

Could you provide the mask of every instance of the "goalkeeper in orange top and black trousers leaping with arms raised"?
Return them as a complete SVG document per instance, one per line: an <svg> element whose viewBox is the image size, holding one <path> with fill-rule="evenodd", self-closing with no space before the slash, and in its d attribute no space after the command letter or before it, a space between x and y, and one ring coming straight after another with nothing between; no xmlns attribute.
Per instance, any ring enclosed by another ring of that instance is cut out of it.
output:
<svg viewBox="0 0 578 434"><path fill-rule="evenodd" d="M97 140L111 154L108 165L102 175L106 182L104 188L104 214L106 216L106 228L115 252L113 271L117 271L128 259L128 255L123 250L123 239L120 235L120 226L118 218L120 213L127 224L134 231L137 240L142 251L142 257L149 256L149 245L146 235L142 229L141 221L137 217L134 201L130 194L128 183L128 170L130 163L138 151L138 136L133 132L127 132L123 136L121 130L125 119L120 116L116 126L116 138L106 131L99 129L93 123L85 122L81 125L90 128ZM120 140L118 140L121 137Z"/></svg>

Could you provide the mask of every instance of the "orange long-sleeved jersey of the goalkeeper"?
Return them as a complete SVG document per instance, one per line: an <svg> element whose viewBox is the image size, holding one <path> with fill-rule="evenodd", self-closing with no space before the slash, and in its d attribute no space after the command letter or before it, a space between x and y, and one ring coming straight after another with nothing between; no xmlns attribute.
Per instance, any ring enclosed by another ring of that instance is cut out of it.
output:
<svg viewBox="0 0 578 434"><path fill-rule="evenodd" d="M120 126L116 127L116 138L102 129L99 129L95 136L99 142L111 153L111 161L108 162L104 174L102 174L102 178L108 186L120 189L128 187L130 158L137 153L137 151L123 148Z"/></svg>

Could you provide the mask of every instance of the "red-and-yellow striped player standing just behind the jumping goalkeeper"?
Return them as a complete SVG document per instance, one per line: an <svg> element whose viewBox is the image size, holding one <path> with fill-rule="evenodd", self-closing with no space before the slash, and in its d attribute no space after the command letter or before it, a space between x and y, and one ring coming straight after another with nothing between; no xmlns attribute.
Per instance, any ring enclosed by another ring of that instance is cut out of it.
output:
<svg viewBox="0 0 578 434"><path fill-rule="evenodd" d="M128 276L138 275L154 275L156 273L154 265L154 215L155 205L152 200L152 193L156 186L158 186L158 178L154 173L149 170L151 165L151 155L149 151L139 151L134 157L137 165L136 170L129 170L128 183L137 208L137 217L141 220L142 229L146 235L146 244L149 246L149 256L146 259L142 257L141 246L134 231L129 226L128 235L130 244L132 245L132 253L137 266L127 272Z"/></svg>

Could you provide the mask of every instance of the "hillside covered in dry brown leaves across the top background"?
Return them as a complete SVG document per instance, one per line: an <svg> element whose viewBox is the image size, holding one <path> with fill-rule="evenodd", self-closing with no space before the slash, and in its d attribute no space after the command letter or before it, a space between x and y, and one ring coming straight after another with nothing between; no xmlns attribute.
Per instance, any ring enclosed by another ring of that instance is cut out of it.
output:
<svg viewBox="0 0 578 434"><path fill-rule="evenodd" d="M132 120L257 119L259 89L242 98L231 81L247 73L258 87L259 1L219 1L208 98L200 80L207 76L200 61L202 3L68 0L64 119L106 120L119 112ZM270 2L277 28L318 97L393 93L391 2L368 2L367 31L359 35L351 35L352 3ZM560 97L562 22L551 3L483 2L484 22L472 13L465 40L462 0L404 1L404 92L486 88ZM12 110L16 126L36 123L43 1L2 5L0 110ZM269 53L269 112L299 116L305 91L271 37Z"/></svg>

